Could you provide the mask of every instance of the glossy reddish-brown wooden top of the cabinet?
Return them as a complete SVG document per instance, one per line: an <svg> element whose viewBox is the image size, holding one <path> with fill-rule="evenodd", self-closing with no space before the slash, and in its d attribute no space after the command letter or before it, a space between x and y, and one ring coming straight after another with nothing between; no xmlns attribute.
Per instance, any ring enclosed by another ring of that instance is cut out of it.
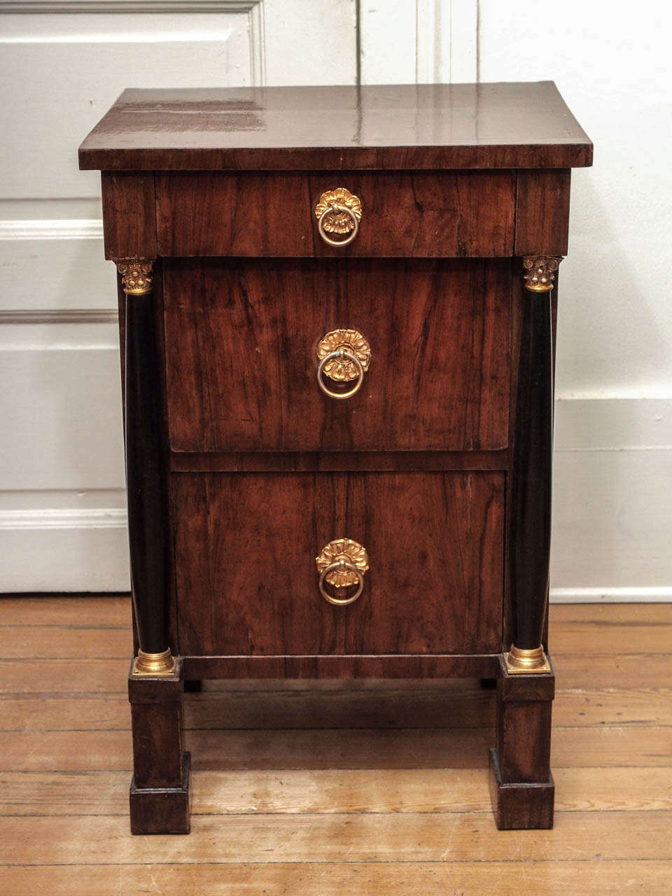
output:
<svg viewBox="0 0 672 896"><path fill-rule="evenodd" d="M80 168L577 168L592 143L553 82L125 90Z"/></svg>

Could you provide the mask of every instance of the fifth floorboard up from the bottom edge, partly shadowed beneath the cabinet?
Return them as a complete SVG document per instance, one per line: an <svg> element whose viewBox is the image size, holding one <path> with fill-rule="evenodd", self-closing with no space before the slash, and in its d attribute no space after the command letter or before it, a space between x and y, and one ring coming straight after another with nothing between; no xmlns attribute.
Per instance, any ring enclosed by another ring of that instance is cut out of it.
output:
<svg viewBox="0 0 672 896"><path fill-rule="evenodd" d="M96 633L100 641L104 636ZM124 661L130 648L124 654ZM121 663L119 663L121 666ZM564 659L563 659L564 666ZM471 681L455 679L447 684L434 680L389 682L384 689L367 681L357 688L342 680L334 690L332 680L307 682L278 680L247 682L232 679L207 683L202 696L185 702L186 727L199 728L476 728L495 724L492 694ZM255 689L243 685L254 684ZM303 685L298 689L296 685ZM218 686L219 685L219 686ZM221 690L221 687L227 690ZM309 690L311 688L312 690ZM450 692L451 715L444 718L445 693ZM73 694L45 702L36 694L13 694L3 701L3 727L7 731L66 731L82 729L126 730L129 708L125 694ZM622 726L623 719L642 725L672 726L672 693L660 688L569 689L554 706L554 724L561 728L595 725ZM670 794L672 798L672 794Z"/></svg>

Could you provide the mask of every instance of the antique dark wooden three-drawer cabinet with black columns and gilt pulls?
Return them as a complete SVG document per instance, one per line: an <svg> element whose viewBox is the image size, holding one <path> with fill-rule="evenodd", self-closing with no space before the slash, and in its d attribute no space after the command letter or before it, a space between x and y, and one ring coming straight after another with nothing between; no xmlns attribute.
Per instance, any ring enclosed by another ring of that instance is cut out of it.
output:
<svg viewBox="0 0 672 896"><path fill-rule="evenodd" d="M126 90L116 263L136 833L189 831L185 680L497 679L500 828L550 827L551 82ZM446 733L446 737L449 734Z"/></svg>

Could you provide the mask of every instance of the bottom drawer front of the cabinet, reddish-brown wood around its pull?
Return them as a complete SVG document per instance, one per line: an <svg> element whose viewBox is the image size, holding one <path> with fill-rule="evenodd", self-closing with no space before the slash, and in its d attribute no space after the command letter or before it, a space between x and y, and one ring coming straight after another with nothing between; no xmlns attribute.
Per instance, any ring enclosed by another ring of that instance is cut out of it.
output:
<svg viewBox="0 0 672 896"><path fill-rule="evenodd" d="M501 650L503 473L176 473L172 501L185 656ZM337 538L369 567L345 606Z"/></svg>

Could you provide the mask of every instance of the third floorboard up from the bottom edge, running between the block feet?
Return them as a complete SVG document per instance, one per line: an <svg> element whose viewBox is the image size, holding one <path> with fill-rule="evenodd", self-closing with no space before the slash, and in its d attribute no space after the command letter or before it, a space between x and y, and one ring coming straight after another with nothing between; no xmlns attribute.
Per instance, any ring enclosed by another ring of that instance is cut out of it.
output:
<svg viewBox="0 0 672 896"><path fill-rule="evenodd" d="M378 692L380 695L383 692ZM445 700L445 698L444 698ZM313 701L314 705L314 701ZM623 782L627 774L628 786ZM491 812L485 770L285 769L194 775L194 815ZM129 771L4 771L0 813L121 815ZM559 812L672 811L672 768L558 768ZM281 783L280 783L281 781ZM101 798L101 788L105 797Z"/></svg>

